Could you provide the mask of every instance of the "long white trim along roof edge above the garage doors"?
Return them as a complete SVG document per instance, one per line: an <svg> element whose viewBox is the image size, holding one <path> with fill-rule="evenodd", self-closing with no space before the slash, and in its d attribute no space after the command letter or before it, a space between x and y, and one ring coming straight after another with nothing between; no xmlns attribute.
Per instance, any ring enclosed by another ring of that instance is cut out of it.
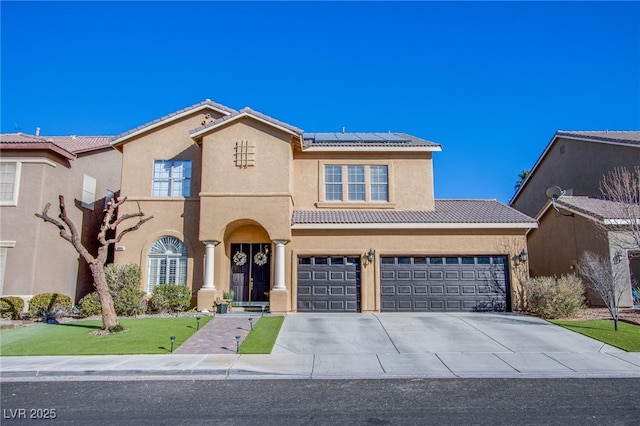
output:
<svg viewBox="0 0 640 426"><path fill-rule="evenodd" d="M298 223L291 229L531 229L537 223Z"/></svg>

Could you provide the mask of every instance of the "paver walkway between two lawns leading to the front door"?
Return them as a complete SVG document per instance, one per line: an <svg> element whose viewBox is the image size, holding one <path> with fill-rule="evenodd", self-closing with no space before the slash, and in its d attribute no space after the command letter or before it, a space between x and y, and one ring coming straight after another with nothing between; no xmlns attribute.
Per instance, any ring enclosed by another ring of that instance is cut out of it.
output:
<svg viewBox="0 0 640 426"><path fill-rule="evenodd" d="M260 314L218 314L187 339L174 354L235 354L237 343L242 344ZM249 321L251 319L252 321ZM239 336L239 342L236 342Z"/></svg>

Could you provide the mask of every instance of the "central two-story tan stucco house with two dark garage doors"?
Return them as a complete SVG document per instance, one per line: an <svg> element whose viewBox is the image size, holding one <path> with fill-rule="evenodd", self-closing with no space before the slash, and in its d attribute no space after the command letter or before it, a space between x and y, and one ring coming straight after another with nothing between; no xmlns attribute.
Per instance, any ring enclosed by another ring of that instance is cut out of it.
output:
<svg viewBox="0 0 640 426"><path fill-rule="evenodd" d="M116 247L144 290L180 283L272 312L511 310L535 220L495 200L435 200L440 145L305 133L206 100L113 139L121 193L154 219ZM128 203L121 211L137 209Z"/></svg>

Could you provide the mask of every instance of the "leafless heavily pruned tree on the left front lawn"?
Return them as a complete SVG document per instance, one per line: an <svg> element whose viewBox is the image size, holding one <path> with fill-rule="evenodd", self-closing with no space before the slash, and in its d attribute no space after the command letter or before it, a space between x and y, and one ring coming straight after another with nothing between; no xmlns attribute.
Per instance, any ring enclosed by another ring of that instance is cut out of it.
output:
<svg viewBox="0 0 640 426"><path fill-rule="evenodd" d="M105 331L111 331L118 325L118 318L104 274L104 264L107 261L109 246L120 242L123 236L129 232L137 230L143 223L151 220L153 216L144 217L144 213L142 213L140 205L138 204L138 212L127 213L120 217L116 217L118 207L127 201L127 197L119 198L117 201L110 200L104 211L104 217L102 218L102 223L97 235L98 242L100 243L98 247L98 254L93 256L89 250L82 245L82 236L80 235L78 228L67 216L64 197L60 195L58 199L60 203L60 214L58 215L58 219L49 216L49 208L51 207L50 203L47 203L42 210L42 213L36 213L36 217L58 227L60 230L60 236L67 240L89 265L91 275L93 276L93 285L98 292L100 305L102 307L102 328ZM115 236L110 237L120 224L134 218L138 218L138 222L135 225L125 228L115 234Z"/></svg>

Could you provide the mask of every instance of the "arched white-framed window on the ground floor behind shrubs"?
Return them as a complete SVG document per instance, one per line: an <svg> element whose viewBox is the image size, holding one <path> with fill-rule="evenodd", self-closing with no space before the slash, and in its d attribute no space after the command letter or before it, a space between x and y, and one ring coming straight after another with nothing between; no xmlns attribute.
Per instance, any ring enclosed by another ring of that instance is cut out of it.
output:
<svg viewBox="0 0 640 426"><path fill-rule="evenodd" d="M149 249L147 293L161 284L187 284L187 248L178 238L165 236Z"/></svg>

